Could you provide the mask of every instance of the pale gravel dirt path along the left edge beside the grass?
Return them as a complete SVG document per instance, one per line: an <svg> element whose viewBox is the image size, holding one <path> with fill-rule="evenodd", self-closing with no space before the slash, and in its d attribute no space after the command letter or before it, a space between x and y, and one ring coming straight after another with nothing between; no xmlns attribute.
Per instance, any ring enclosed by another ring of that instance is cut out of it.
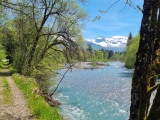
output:
<svg viewBox="0 0 160 120"><path fill-rule="evenodd" d="M0 73L0 77L5 75L12 91L12 103L11 104L0 104L0 120L34 120L30 109L26 105L24 95L19 90L17 85L11 78L8 69L5 72ZM2 79L0 78L0 91L3 90ZM0 95L0 101L3 100L3 96Z"/></svg>

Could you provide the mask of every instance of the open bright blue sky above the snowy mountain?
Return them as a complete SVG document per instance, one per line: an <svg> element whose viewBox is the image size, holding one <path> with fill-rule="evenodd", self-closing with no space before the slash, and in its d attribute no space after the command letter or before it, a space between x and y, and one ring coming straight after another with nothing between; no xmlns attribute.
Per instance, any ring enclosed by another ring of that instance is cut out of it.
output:
<svg viewBox="0 0 160 120"><path fill-rule="evenodd" d="M120 0L100 20L92 20L100 15L98 9L107 10L117 0L88 0L82 7L88 12L90 21L85 21L82 34L85 39L94 39L98 36L126 36L132 32L137 35L140 29L142 13L133 7L125 6L126 0ZM133 0L134 5L142 8L143 0Z"/></svg>

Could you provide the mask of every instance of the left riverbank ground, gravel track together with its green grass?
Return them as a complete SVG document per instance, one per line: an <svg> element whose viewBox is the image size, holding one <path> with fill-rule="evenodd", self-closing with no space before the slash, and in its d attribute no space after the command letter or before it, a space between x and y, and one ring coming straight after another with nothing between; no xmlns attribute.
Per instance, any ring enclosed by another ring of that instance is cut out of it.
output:
<svg viewBox="0 0 160 120"><path fill-rule="evenodd" d="M3 66L0 72L0 81L3 83L0 86L2 120L62 120L57 105L52 104L51 107L47 103L51 100L46 102L47 97L40 94L33 78L19 75L12 68L8 70L4 63Z"/></svg>

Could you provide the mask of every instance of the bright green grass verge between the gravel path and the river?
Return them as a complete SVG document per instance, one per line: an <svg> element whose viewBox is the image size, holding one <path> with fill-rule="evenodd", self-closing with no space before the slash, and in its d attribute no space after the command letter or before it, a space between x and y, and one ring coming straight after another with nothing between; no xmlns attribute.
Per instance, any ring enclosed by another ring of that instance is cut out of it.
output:
<svg viewBox="0 0 160 120"><path fill-rule="evenodd" d="M26 78L19 74L12 75L13 80L24 93L28 106L33 115L40 120L62 120L57 108L52 108L44 101L44 98L35 93L38 88L37 82L32 78Z"/></svg>

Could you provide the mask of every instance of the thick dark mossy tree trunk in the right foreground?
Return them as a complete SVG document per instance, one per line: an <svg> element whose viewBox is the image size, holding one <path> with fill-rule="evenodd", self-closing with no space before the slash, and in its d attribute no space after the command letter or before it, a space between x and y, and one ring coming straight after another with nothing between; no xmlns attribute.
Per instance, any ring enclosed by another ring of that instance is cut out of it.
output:
<svg viewBox="0 0 160 120"><path fill-rule="evenodd" d="M140 45L132 79L130 120L147 118L151 88L155 83L154 66L157 62L157 13L158 0L144 0ZM154 63L154 64L153 64ZM154 69L153 69L154 68Z"/></svg>

